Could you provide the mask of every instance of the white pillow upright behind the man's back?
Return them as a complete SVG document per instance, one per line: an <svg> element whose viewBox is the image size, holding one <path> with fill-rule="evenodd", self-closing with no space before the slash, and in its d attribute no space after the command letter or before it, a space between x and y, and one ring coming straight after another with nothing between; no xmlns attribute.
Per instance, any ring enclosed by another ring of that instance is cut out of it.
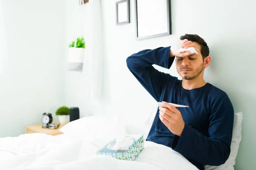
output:
<svg viewBox="0 0 256 170"><path fill-rule="evenodd" d="M242 120L243 120L243 113L235 113L234 115L234 126L233 126L233 136L230 146L230 156L227 161L220 165L220 166L205 166L205 170L218 170L223 169L224 167L231 167L234 166L236 163L236 156L239 149L239 144L242 139L241 130L242 130ZM232 167L231 167L232 168ZM230 168L230 169L231 169ZM232 169L231 169L232 170Z"/></svg>

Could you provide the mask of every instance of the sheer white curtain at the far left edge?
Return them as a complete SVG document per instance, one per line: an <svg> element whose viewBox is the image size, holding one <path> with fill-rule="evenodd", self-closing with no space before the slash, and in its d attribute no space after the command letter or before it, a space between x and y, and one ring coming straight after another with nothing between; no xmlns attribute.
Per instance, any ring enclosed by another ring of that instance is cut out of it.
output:
<svg viewBox="0 0 256 170"><path fill-rule="evenodd" d="M6 36L5 28L3 22L3 6L2 1L0 1L0 74L5 71L6 60L7 60L7 46L6 46Z"/></svg>

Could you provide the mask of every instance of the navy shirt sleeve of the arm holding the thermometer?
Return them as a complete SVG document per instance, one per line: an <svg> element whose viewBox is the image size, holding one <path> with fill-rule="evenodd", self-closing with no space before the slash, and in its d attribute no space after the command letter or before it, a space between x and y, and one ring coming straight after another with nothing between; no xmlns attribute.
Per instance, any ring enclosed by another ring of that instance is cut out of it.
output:
<svg viewBox="0 0 256 170"><path fill-rule="evenodd" d="M209 136L185 124L181 136L174 137L172 149L204 165L219 166L227 161L233 133L234 110L227 94L213 103L209 116Z"/></svg>

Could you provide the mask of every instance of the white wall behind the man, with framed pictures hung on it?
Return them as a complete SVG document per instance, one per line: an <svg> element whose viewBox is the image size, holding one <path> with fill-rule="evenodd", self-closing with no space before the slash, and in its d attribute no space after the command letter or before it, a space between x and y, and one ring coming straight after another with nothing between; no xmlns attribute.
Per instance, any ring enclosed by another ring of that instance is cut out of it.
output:
<svg viewBox="0 0 256 170"><path fill-rule="evenodd" d="M130 0L131 23L115 24L115 2L101 0L104 28L105 96L99 105L90 97L77 98L81 73L67 71L66 104L81 109L81 116L119 113L143 118L154 101L126 67L126 58L145 48L171 45L174 37L185 33L198 34L210 48L212 62L205 80L224 90L235 112L243 112L242 141L236 170L255 169L256 133L256 62L253 54L256 39L256 1L253 0L172 0L172 35L148 40L135 40L134 0ZM73 14L73 0L66 0L68 16ZM67 22L71 21L69 17ZM67 30L72 30L66 23ZM70 34L66 32L66 44ZM159 68L159 67L157 67ZM161 71L178 76L175 66ZM180 77L179 77L180 78ZM131 120L131 119L129 119Z"/></svg>

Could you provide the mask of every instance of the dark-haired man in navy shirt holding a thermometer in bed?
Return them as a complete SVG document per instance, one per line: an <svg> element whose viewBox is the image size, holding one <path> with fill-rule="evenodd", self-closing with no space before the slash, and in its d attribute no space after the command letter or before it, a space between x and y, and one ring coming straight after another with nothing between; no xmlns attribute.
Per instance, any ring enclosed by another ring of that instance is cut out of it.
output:
<svg viewBox="0 0 256 170"><path fill-rule="evenodd" d="M126 59L128 69L164 107L157 109L147 141L171 147L198 169L224 164L230 155L234 110L224 91L204 81L211 62L207 43L196 34L185 34L180 48L198 52L172 51L172 47L143 50ZM178 80L152 65L170 68L176 62ZM168 102L187 105L175 108Z"/></svg>

